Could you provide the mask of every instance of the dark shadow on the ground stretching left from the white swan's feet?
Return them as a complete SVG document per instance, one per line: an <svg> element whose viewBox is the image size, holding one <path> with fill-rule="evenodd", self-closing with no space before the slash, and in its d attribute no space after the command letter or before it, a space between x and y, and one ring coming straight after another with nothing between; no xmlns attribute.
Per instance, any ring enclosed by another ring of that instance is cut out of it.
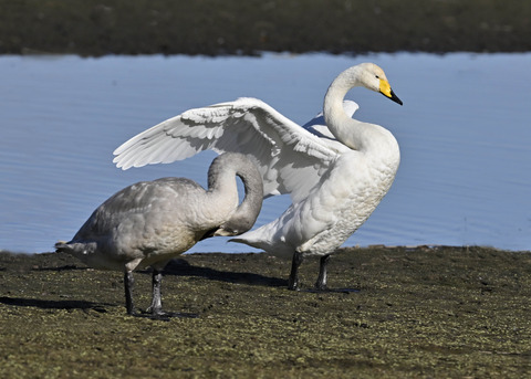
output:
<svg viewBox="0 0 531 379"><path fill-rule="evenodd" d="M219 271L210 267L194 266L181 259L171 260L164 269L164 275L197 276L218 282L262 285L271 287L282 287L288 285L287 280L263 276L260 274Z"/></svg>

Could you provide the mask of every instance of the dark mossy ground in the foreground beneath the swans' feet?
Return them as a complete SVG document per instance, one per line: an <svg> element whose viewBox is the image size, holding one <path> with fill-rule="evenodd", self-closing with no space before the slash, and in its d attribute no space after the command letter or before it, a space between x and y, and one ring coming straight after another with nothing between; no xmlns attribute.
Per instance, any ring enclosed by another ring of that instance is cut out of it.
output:
<svg viewBox="0 0 531 379"><path fill-rule="evenodd" d="M0 254L2 378L523 378L531 255L344 249L330 293L285 288L290 262L192 254L167 267L169 322L125 314L122 274L63 254ZM317 260L302 266L303 288ZM139 272L136 303L149 303Z"/></svg>

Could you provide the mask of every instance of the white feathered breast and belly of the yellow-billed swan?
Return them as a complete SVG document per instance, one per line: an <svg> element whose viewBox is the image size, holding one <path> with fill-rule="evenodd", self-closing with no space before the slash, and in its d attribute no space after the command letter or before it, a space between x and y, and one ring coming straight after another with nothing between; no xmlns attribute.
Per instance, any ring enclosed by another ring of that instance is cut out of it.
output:
<svg viewBox="0 0 531 379"><path fill-rule="evenodd" d="M376 209L389 190L398 168L399 154L371 156L343 154L323 176L302 204L304 241L298 248L310 254L325 254L348 239Z"/></svg>

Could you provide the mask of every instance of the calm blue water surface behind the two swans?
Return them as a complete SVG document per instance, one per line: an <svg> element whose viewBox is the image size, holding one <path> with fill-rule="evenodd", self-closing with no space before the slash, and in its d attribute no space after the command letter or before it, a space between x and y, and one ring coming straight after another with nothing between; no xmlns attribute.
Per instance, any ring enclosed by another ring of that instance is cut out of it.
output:
<svg viewBox="0 0 531 379"><path fill-rule="evenodd" d="M404 106L364 88L358 119L391 129L395 183L352 245L491 245L531 250L531 54L266 54L262 57L0 56L0 249L51 251L133 182L166 176L206 185L214 154L122 171L112 151L191 107L261 98L304 124L331 81L372 61ZM264 202L257 225L289 197ZM250 252L223 238L191 251Z"/></svg>

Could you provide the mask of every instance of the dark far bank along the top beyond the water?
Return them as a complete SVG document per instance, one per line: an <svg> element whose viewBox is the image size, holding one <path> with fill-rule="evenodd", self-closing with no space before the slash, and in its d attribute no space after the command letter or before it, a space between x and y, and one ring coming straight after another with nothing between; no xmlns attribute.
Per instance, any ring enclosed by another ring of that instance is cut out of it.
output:
<svg viewBox="0 0 531 379"><path fill-rule="evenodd" d="M531 50L521 0L0 0L0 54Z"/></svg>

